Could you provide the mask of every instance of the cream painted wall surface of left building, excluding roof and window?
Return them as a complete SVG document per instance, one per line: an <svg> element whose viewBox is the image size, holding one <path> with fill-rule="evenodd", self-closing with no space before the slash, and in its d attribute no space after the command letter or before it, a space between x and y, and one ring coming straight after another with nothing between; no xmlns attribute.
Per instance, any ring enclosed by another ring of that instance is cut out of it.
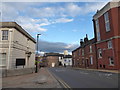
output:
<svg viewBox="0 0 120 90"><path fill-rule="evenodd" d="M7 41L2 41L2 31L1 30L9 30L12 29L11 32L11 49L9 49L9 40L10 35L8 35ZM8 65L8 54L10 50L10 62ZM25 54L26 51L32 52L30 58L27 58ZM14 69L16 65L16 58L25 58L26 65L24 68L32 68L35 63L35 43L20 33L15 28L0 28L0 53L6 53L6 66L9 66L8 69ZM20 66L19 68L23 68Z"/></svg>

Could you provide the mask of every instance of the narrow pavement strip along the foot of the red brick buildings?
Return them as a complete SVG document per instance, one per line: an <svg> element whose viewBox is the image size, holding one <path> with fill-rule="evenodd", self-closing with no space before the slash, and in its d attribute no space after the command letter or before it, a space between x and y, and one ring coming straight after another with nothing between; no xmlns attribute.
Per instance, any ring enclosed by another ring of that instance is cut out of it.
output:
<svg viewBox="0 0 120 90"><path fill-rule="evenodd" d="M87 69L87 68L78 68L78 67L73 67L73 69L89 70L89 71L97 71L97 72L108 72L108 73L120 73L119 70Z"/></svg>

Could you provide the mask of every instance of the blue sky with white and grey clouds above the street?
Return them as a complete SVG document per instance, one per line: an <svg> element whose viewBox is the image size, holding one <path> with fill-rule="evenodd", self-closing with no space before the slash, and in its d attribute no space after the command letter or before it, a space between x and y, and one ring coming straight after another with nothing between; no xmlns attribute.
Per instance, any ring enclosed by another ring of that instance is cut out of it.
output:
<svg viewBox="0 0 120 90"><path fill-rule="evenodd" d="M2 21L17 22L35 39L36 34L40 33L39 50L42 52L71 52L79 46L79 40L85 34L89 39L94 37L92 17L110 0L8 1L12 0L0 4Z"/></svg>

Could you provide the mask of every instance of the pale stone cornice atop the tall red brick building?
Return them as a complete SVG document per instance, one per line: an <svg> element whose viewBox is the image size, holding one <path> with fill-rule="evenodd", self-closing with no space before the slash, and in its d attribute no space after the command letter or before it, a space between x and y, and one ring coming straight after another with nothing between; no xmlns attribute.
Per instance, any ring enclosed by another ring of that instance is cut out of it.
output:
<svg viewBox="0 0 120 90"><path fill-rule="evenodd" d="M96 14L93 16L93 18L96 20L97 18L102 16L105 12L107 12L111 8L115 8L115 7L120 7L120 1L119 2L113 1L113 2L107 3L102 9L100 9L96 12Z"/></svg>

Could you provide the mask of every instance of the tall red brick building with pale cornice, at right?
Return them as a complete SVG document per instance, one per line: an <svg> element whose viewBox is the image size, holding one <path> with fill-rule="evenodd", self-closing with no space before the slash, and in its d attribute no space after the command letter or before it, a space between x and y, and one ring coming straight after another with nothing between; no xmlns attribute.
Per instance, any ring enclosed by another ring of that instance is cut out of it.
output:
<svg viewBox="0 0 120 90"><path fill-rule="evenodd" d="M120 69L120 1L109 2L93 16L98 68Z"/></svg>

